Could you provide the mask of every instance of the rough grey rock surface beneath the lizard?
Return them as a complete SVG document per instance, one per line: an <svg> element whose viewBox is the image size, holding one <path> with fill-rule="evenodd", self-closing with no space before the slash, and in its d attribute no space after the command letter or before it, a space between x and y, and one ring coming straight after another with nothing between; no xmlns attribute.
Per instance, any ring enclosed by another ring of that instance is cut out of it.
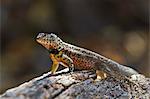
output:
<svg viewBox="0 0 150 99"><path fill-rule="evenodd" d="M7 90L0 99L150 99L150 78L135 83L113 77L97 81L91 71L66 71L34 78Z"/></svg>

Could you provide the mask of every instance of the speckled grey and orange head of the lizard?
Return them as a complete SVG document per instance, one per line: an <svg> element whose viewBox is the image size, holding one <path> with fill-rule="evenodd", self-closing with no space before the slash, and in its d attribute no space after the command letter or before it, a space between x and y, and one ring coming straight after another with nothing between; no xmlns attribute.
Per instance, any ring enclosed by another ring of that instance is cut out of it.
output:
<svg viewBox="0 0 150 99"><path fill-rule="evenodd" d="M53 33L50 33L50 34L49 33L39 33L36 37L36 41L48 50L63 49L62 48L63 41Z"/></svg>

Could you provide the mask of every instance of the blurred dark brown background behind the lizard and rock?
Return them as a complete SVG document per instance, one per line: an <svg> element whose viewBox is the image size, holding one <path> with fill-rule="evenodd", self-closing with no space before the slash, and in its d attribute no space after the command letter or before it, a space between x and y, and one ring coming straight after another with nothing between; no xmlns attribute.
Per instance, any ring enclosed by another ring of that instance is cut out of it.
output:
<svg viewBox="0 0 150 99"><path fill-rule="evenodd" d="M150 77L148 1L1 0L0 93L50 70L38 32L56 32Z"/></svg>

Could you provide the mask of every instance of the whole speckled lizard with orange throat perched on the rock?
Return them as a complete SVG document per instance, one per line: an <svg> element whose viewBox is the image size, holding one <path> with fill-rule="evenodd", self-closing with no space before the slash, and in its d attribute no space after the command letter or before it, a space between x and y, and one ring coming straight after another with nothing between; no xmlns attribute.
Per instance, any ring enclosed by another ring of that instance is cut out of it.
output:
<svg viewBox="0 0 150 99"><path fill-rule="evenodd" d="M123 66L95 52L63 42L53 33L39 33L36 41L50 53L53 61L51 68L54 74L62 64L71 71L76 69L96 70L97 78L104 79L111 75L117 78L131 77L138 74L132 68Z"/></svg>

